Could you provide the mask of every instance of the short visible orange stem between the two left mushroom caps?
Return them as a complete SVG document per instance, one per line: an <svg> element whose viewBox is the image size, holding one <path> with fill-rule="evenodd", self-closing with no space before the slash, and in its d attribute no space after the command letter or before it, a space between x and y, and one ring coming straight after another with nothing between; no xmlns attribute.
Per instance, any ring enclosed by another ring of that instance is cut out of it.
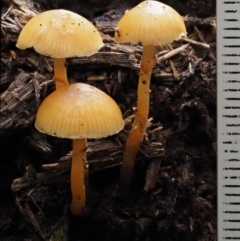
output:
<svg viewBox="0 0 240 241"><path fill-rule="evenodd" d="M53 66L56 89L68 85L66 58L54 58Z"/></svg>

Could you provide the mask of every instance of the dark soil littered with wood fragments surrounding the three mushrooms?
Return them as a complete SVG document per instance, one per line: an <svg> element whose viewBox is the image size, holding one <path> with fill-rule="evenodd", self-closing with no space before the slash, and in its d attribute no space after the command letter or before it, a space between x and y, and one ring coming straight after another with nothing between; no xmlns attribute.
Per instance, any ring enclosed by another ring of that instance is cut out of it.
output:
<svg viewBox="0 0 240 241"><path fill-rule="evenodd" d="M69 9L96 24L105 46L92 57L69 59L69 80L97 86L115 99L124 118L131 116L136 106L141 48L121 47L112 42L111 36L123 11L140 1L24 2L37 11ZM173 56L179 79L172 75L168 60L154 67L149 114L153 120L137 157L129 193L122 194L117 184L132 119L128 118L119 134L89 141L90 184L86 212L81 218L72 217L69 211L71 142L40 134L34 128L39 104L54 89L50 81L52 60L32 49L17 49L21 27L6 25L11 22L4 18L0 241L217 240L215 1L164 3L188 15L188 36L205 41L210 50L190 44ZM4 1L2 16L11 4ZM13 9L20 6L14 3ZM16 14L20 23L24 21L16 12L9 14L11 19ZM180 41L173 47L183 44Z"/></svg>

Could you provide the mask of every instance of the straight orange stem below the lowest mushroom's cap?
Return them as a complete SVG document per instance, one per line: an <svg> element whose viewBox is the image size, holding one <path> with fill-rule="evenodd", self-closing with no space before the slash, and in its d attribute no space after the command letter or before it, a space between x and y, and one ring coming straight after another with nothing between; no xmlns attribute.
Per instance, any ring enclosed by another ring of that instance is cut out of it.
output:
<svg viewBox="0 0 240 241"><path fill-rule="evenodd" d="M84 185L84 164L86 162L87 140L73 140L72 168L71 168L71 211L75 216L82 214L86 202Z"/></svg>

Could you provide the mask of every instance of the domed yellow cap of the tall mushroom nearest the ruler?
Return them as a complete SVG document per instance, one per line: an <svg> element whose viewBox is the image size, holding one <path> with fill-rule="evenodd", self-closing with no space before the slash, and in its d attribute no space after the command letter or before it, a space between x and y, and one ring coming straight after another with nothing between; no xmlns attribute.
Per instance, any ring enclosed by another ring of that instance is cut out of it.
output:
<svg viewBox="0 0 240 241"><path fill-rule="evenodd" d="M144 1L125 12L118 22L114 40L160 45L186 34L183 18L173 8L157 1Z"/></svg>

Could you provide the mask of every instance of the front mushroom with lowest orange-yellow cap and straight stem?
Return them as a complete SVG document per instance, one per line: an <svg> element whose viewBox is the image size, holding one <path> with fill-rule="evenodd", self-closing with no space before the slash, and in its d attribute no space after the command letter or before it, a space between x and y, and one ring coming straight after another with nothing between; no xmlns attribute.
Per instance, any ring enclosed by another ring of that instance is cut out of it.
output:
<svg viewBox="0 0 240 241"><path fill-rule="evenodd" d="M36 129L51 136L73 139L71 211L74 215L82 214L86 201L86 139L116 134L123 125L116 102L103 91L83 83L55 90L40 105Z"/></svg>

